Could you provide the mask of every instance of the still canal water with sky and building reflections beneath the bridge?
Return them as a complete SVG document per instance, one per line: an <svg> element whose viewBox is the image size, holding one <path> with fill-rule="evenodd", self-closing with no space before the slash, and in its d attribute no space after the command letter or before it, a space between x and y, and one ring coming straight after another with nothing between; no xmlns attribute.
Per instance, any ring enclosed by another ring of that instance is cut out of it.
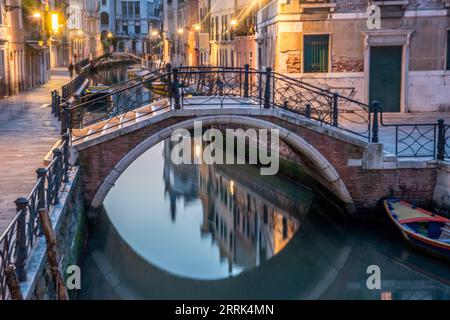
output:
<svg viewBox="0 0 450 320"><path fill-rule="evenodd" d="M449 265L384 212L346 226L313 189L247 165L176 166L172 147L149 149L109 192L81 299L450 299ZM381 290L366 284L373 265Z"/></svg>

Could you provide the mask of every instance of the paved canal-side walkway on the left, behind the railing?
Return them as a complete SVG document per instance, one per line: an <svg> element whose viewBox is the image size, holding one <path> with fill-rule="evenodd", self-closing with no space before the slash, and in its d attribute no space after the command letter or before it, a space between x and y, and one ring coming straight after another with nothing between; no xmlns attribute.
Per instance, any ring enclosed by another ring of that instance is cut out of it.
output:
<svg viewBox="0 0 450 320"><path fill-rule="evenodd" d="M48 104L51 91L69 81L65 68L53 69L46 84L0 100L0 234L15 215L14 200L31 191L35 170L59 139Z"/></svg>

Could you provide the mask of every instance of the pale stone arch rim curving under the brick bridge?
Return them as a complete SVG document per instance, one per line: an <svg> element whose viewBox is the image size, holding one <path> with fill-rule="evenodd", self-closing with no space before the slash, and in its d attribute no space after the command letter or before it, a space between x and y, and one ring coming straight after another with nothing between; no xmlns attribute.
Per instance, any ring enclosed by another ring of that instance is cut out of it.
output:
<svg viewBox="0 0 450 320"><path fill-rule="evenodd" d="M111 173L103 180L99 189L97 190L94 199L92 200L91 206L94 208L99 208L106 195L108 194L111 187L114 185L115 181L119 178L122 172L128 168L134 160L140 157L145 151L153 147L158 142L169 138L172 132L176 129L187 129L191 130L194 128L195 121L202 121L204 126L209 126L213 124L232 124L241 125L250 128L261 128L261 129L278 129L280 139L288 143L294 150L298 151L300 154L304 155L310 163L315 166L315 170L321 175L324 181L327 183L325 187L330 189L336 194L336 196L346 205L346 208L354 212L353 199L345 186L344 182L340 178L337 171L331 165L331 163L315 149L306 140L298 136L297 134L275 125L271 122L251 118L239 115L227 115L227 116L205 116L192 118L186 121L182 121L175 125L166 127L159 132L149 136L147 139L138 144L133 150L127 153L111 170Z"/></svg>

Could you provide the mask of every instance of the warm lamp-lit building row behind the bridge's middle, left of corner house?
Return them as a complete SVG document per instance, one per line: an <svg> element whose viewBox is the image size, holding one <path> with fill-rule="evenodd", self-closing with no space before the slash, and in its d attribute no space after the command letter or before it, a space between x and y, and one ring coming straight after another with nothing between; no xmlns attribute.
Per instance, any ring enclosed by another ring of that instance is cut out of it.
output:
<svg viewBox="0 0 450 320"><path fill-rule="evenodd" d="M190 66L256 68L261 1L166 0L165 59Z"/></svg>

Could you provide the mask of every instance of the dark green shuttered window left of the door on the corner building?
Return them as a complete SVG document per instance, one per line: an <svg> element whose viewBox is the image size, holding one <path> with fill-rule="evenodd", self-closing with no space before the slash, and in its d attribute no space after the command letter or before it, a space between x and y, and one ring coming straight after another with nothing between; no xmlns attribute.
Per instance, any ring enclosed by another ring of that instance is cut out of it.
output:
<svg viewBox="0 0 450 320"><path fill-rule="evenodd" d="M329 35L304 36L304 72L328 72L329 38Z"/></svg>

